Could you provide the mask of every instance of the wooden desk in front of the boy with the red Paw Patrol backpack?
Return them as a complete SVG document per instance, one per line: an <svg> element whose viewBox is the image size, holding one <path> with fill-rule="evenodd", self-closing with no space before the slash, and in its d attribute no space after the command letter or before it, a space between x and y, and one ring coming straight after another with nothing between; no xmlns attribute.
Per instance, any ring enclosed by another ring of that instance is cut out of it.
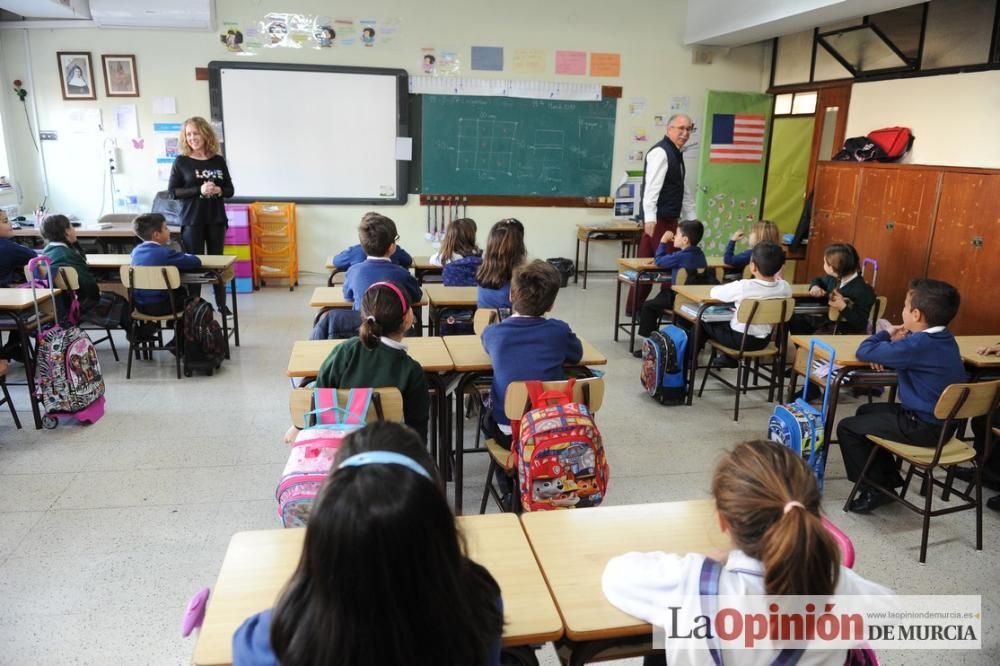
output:
<svg viewBox="0 0 1000 666"><path fill-rule="evenodd" d="M459 378L455 388L455 433L454 437L451 438L453 443L446 441L445 446L441 447L439 464L441 466L441 473L445 475L445 478L453 478L455 481L455 513L460 515L462 513L462 480L464 474L462 458L466 452L464 444L465 412L462 409L462 398L477 379L492 375L493 362L490 360L490 356L486 353L486 350L483 349L482 340L480 340L478 335L449 335L441 338L441 340L444 341L445 346L448 348L448 353L451 355L455 371L459 373ZM583 338L580 338L580 342L583 343L583 357L579 363L576 363L572 367L580 367L586 370L588 366L592 365L607 365L607 357L598 351L594 345ZM478 425L476 427L478 429ZM443 432L447 428L442 427L441 430ZM454 462L451 461L452 454L454 454ZM448 475L448 471L452 468L454 471L453 477Z"/></svg>

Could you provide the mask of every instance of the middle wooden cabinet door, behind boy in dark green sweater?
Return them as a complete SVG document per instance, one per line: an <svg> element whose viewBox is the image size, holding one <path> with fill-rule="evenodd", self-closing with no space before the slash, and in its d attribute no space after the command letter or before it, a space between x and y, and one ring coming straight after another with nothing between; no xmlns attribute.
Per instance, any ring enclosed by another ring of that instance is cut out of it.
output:
<svg viewBox="0 0 1000 666"><path fill-rule="evenodd" d="M878 262L875 291L888 299L886 318L902 323L910 280L924 275L941 172L866 169L858 203L854 247Z"/></svg>

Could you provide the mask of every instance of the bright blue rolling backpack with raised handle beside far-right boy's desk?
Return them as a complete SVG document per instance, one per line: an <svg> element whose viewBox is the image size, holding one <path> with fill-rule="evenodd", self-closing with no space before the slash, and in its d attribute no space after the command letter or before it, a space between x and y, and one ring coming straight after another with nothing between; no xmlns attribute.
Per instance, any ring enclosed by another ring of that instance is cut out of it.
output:
<svg viewBox="0 0 1000 666"><path fill-rule="evenodd" d="M806 360L806 372L813 372L813 354L816 348L829 354L829 370L826 375L826 388L823 391L823 408L817 410L806 402L806 391L809 388L809 376L802 384L802 397L794 402L778 405L771 414L767 424L767 438L782 446L787 446L796 454L802 456L816 475L819 491L823 492L823 473L826 470L826 424L827 408L830 400L830 381L833 378L834 350L833 347L820 340L809 343L809 357Z"/></svg>

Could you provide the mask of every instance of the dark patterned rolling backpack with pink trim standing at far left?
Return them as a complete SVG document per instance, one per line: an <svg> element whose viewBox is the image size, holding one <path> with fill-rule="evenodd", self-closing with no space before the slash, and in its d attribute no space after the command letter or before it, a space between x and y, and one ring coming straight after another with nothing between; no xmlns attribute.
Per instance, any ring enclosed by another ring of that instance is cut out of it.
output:
<svg viewBox="0 0 1000 666"><path fill-rule="evenodd" d="M41 270L39 270L41 266ZM95 423L104 416L104 378L101 362L90 337L75 325L59 325L58 304L52 281L47 282L54 320L42 331L42 316L38 310L37 289L42 282L37 276L51 275L52 262L42 255L28 262L31 294L35 296L35 321L38 347L35 354L35 389L46 416L42 425L55 428L60 418L72 416L84 423ZM76 295L72 294L72 302ZM70 312L74 308L70 307Z"/></svg>

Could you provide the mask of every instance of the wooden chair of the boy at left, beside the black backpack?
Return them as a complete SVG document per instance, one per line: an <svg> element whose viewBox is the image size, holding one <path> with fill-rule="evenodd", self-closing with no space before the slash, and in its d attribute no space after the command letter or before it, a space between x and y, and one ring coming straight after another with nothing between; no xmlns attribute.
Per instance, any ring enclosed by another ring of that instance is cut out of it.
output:
<svg viewBox="0 0 1000 666"><path fill-rule="evenodd" d="M174 289L181 286L181 274L176 266L122 266L119 274L122 284L128 289L130 303L135 303L136 289L165 290L167 298L170 300L170 309L176 310ZM148 315L140 312L134 306L132 307L128 336L128 366L125 369L125 379L132 379L132 357L138 358L140 350L144 352L146 358L150 358L153 351L170 351L163 344L163 324L173 324L174 359L177 364L177 379L181 378L181 356L184 353L184 327L181 322L183 316L183 311L161 316ZM157 325L156 340L139 339L142 325L146 322Z"/></svg>

